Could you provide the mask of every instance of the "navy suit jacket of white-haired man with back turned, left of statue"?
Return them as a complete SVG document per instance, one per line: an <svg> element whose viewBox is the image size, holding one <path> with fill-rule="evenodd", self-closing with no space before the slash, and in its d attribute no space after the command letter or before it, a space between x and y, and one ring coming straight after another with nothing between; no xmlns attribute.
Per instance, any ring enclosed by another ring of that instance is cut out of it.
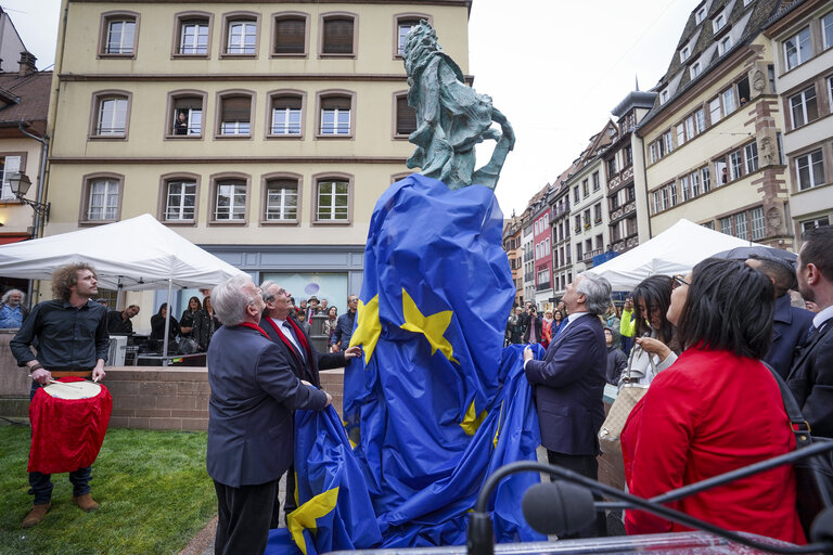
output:
<svg viewBox="0 0 833 555"><path fill-rule="evenodd" d="M208 475L231 488L277 480L292 464L295 409L322 410L283 350L260 332L222 326L208 347Z"/></svg>

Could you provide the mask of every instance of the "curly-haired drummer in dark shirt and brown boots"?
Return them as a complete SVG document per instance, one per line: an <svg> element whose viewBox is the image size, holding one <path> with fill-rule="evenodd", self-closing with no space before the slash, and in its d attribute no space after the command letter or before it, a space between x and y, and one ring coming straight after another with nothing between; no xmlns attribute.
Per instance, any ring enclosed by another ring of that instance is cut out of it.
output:
<svg viewBox="0 0 833 555"><path fill-rule="evenodd" d="M95 271L87 263L64 266L52 274L54 299L38 304L10 344L17 364L31 374L29 399L54 378L79 376L98 382L104 377L110 336L107 309L90 300L98 293ZM37 356L31 345L37 345ZM90 478L89 466L69 473L72 501L88 513L99 508L90 495ZM52 506L50 475L29 473L29 486L35 501L23 528L39 524Z"/></svg>

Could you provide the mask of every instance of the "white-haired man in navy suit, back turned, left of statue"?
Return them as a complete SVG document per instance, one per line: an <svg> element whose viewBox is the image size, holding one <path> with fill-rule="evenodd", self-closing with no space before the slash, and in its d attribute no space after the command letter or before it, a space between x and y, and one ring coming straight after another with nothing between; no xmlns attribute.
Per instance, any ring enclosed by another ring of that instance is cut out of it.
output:
<svg viewBox="0 0 833 555"><path fill-rule="evenodd" d="M217 492L215 553L261 554L278 480L292 464L295 409L320 411L332 397L295 376L258 325L260 289L239 275L212 292L223 323L208 347L208 475Z"/></svg>

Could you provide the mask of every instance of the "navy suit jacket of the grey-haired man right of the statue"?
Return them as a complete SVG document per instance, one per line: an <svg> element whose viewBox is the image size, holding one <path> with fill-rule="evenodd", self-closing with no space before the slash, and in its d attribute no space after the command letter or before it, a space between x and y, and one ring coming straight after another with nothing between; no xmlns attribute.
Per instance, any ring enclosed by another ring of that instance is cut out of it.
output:
<svg viewBox="0 0 833 555"><path fill-rule="evenodd" d="M595 314L572 322L542 361L526 363L526 378L536 385L543 447L571 455L599 454L606 369L604 327Z"/></svg>

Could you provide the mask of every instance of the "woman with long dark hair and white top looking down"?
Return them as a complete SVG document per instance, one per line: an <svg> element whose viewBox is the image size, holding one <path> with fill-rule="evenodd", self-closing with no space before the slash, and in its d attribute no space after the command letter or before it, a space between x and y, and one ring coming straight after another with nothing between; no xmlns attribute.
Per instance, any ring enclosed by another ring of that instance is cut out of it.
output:
<svg viewBox="0 0 833 555"><path fill-rule="evenodd" d="M650 385L654 376L677 360L678 341L674 324L666 318L671 299L671 279L652 275L633 288L632 300L626 307L635 308L633 332L637 345L630 351L628 366L619 377L619 387L629 384ZM621 325L630 321L626 308Z"/></svg>

